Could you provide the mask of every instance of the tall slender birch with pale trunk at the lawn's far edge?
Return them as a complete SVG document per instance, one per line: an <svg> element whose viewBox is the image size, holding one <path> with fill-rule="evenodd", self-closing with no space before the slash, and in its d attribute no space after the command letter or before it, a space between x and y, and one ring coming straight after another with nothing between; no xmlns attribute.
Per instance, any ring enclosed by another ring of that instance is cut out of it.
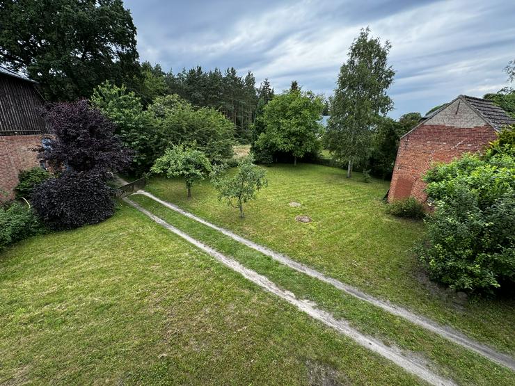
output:
<svg viewBox="0 0 515 386"><path fill-rule="evenodd" d="M351 177L353 163L367 156L372 127L393 108L386 94L395 75L388 66L391 45L388 41L381 45L379 38L369 34L368 28L361 30L340 68L324 136L326 149L335 159L348 161L347 177Z"/></svg>

